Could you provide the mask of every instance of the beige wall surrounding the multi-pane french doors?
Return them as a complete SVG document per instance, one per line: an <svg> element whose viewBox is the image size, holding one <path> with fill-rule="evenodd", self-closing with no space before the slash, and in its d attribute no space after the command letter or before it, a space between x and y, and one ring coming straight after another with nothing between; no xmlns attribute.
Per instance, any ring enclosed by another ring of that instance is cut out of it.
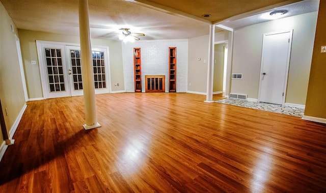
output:
<svg viewBox="0 0 326 193"><path fill-rule="evenodd" d="M45 32L36 32L29 30L18 30L20 37L21 53L24 63L26 85L28 87L29 98L42 98L41 77L39 71L39 63L32 65L31 61L38 61L36 40L66 42L66 43L79 43L78 36L68 36L61 34L52 34ZM111 70L111 88L112 91L123 91L123 66L122 66L122 48L121 42L107 39L92 40L92 45L108 46ZM114 86L115 82L119 82L120 86Z"/></svg>

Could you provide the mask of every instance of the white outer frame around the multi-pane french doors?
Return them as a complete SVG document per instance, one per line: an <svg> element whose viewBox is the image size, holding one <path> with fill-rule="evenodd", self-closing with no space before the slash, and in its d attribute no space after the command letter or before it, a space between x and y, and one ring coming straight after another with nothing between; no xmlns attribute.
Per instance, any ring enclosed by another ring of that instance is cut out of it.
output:
<svg viewBox="0 0 326 193"><path fill-rule="evenodd" d="M44 44L54 44L54 45L61 45L64 46L64 50L62 50L63 54L65 54L66 59L64 60L64 62L66 63L66 68L69 67L69 60L70 57L69 55L67 55L67 47L68 46L78 46L80 47L80 44L78 43L68 43L68 42L52 42L52 41L43 41L43 40L36 40L36 49L37 49L37 58L38 58L38 62L39 62L39 70L40 70L40 78L41 78L41 86L42 86L42 93L43 93L43 99L47 99L48 97L48 82L47 82L47 77L42 75L42 73L46 72L45 69L45 61L43 59L43 45ZM105 73L106 73L106 80L107 80L107 88L108 88L108 93L112 92L112 88L111 88L111 70L110 70L110 53L108 52L108 46L98 46L98 45L92 45L92 50L95 49L105 49L106 50L106 54L104 52L104 59L106 59L105 64L107 65L107 68L105 69ZM70 78L67 78L67 84L70 88ZM97 90L95 90L97 91ZM102 94L102 93L107 93L107 92L103 92L102 89L99 89L98 92L95 92L95 94ZM71 96L71 90L69 89L69 96Z"/></svg>

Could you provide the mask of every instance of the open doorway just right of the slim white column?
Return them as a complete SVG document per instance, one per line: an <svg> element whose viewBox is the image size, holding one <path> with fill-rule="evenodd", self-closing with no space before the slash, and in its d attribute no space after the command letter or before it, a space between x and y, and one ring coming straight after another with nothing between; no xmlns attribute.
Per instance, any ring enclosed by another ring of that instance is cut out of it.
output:
<svg viewBox="0 0 326 193"><path fill-rule="evenodd" d="M226 72L228 60L228 41L215 42L213 94L226 93Z"/></svg>

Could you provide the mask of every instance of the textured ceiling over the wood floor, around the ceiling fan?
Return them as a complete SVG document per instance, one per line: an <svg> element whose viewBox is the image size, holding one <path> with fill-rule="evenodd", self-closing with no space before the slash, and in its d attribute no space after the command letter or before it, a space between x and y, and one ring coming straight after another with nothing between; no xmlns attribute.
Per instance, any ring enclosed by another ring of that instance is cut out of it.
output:
<svg viewBox="0 0 326 193"><path fill-rule="evenodd" d="M0 1L18 29L79 35L78 0ZM107 34L121 33L118 29L128 27L132 33L146 34L142 40L187 39L209 34L209 24L215 21L295 2L301 1L89 0L91 35L117 39L117 35ZM203 18L206 13L212 16ZM222 24L231 25L230 21Z"/></svg>

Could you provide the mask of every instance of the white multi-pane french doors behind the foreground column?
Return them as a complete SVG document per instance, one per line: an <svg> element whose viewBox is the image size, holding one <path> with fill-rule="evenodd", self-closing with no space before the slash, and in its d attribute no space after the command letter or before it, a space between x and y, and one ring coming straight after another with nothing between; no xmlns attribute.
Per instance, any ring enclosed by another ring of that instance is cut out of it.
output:
<svg viewBox="0 0 326 193"><path fill-rule="evenodd" d="M80 47L37 41L44 98L83 95ZM109 93L107 48L92 47L95 94Z"/></svg>

